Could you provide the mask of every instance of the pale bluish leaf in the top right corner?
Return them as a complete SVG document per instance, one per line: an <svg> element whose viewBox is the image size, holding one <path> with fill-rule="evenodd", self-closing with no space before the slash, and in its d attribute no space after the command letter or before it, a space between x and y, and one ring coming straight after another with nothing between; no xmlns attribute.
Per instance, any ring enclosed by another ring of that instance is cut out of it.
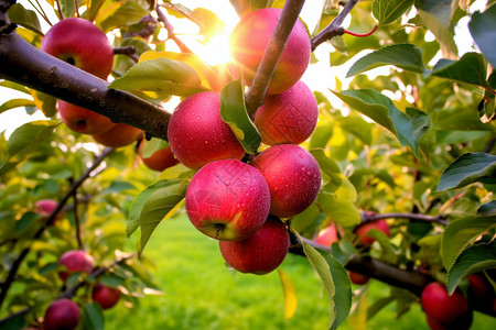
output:
<svg viewBox="0 0 496 330"><path fill-rule="evenodd" d="M487 8L483 13L474 12L468 30L481 52L496 67L496 6Z"/></svg>

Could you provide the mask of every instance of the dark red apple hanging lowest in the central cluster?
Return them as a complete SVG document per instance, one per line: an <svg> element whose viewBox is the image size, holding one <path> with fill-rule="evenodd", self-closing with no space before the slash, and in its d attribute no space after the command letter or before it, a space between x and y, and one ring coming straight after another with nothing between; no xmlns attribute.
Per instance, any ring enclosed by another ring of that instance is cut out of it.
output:
<svg viewBox="0 0 496 330"><path fill-rule="evenodd" d="M251 237L237 242L219 241L224 260L241 273L263 275L276 270L288 254L290 238L284 223L269 217Z"/></svg>

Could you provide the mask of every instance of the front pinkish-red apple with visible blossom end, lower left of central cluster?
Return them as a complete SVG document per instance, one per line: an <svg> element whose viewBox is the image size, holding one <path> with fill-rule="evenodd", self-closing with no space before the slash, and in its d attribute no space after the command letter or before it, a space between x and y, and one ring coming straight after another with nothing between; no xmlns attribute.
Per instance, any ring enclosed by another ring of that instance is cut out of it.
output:
<svg viewBox="0 0 496 330"><path fill-rule="evenodd" d="M204 234L225 241L252 235L269 216L270 193L259 170L237 160L212 162L192 178L186 212Z"/></svg>

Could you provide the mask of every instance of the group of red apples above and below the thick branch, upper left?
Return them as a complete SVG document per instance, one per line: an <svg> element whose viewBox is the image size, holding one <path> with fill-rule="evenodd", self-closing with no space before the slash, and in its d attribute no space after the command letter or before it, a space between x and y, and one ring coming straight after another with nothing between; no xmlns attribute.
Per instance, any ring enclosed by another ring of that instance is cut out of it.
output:
<svg viewBox="0 0 496 330"><path fill-rule="evenodd" d="M107 79L112 70L112 45L98 26L82 18L63 19L53 25L43 37L41 50L101 79ZM90 134L106 146L125 146L143 134L131 125L114 123L105 116L62 100L58 113L71 130Z"/></svg>

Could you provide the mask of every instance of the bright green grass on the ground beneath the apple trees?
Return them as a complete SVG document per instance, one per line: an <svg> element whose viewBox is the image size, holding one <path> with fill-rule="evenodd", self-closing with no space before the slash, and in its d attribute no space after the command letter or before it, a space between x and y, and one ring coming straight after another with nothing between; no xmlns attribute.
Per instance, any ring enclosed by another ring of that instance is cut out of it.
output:
<svg viewBox="0 0 496 330"><path fill-rule="evenodd" d="M289 255L282 264L292 279L298 309L284 319L283 295L277 272L265 276L234 273L226 268L216 241L194 229L180 217L161 223L144 254L157 265L155 283L163 296L148 296L129 309L119 304L106 311L106 329L174 329L174 330L266 330L328 329L326 294L308 261ZM371 282L370 301L385 297L388 286ZM348 329L429 329L419 305L399 320L390 304L367 327L349 319L339 330ZM472 329L496 329L496 319L476 314Z"/></svg>

